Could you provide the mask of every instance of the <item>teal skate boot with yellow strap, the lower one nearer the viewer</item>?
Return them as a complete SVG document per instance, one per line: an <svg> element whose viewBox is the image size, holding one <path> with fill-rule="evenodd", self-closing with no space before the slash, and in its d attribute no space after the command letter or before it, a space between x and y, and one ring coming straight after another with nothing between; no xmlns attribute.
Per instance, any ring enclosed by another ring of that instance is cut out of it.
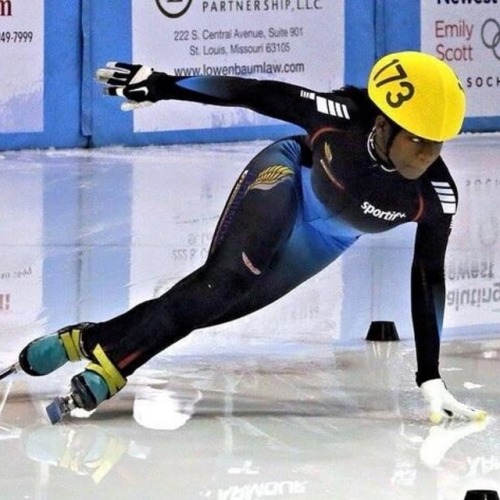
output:
<svg viewBox="0 0 500 500"><path fill-rule="evenodd" d="M76 408L92 411L104 400L120 391L127 379L118 371L100 345L92 352L95 363L90 363L85 371L71 379L68 396L56 398L47 406L47 415L55 424Z"/></svg>

